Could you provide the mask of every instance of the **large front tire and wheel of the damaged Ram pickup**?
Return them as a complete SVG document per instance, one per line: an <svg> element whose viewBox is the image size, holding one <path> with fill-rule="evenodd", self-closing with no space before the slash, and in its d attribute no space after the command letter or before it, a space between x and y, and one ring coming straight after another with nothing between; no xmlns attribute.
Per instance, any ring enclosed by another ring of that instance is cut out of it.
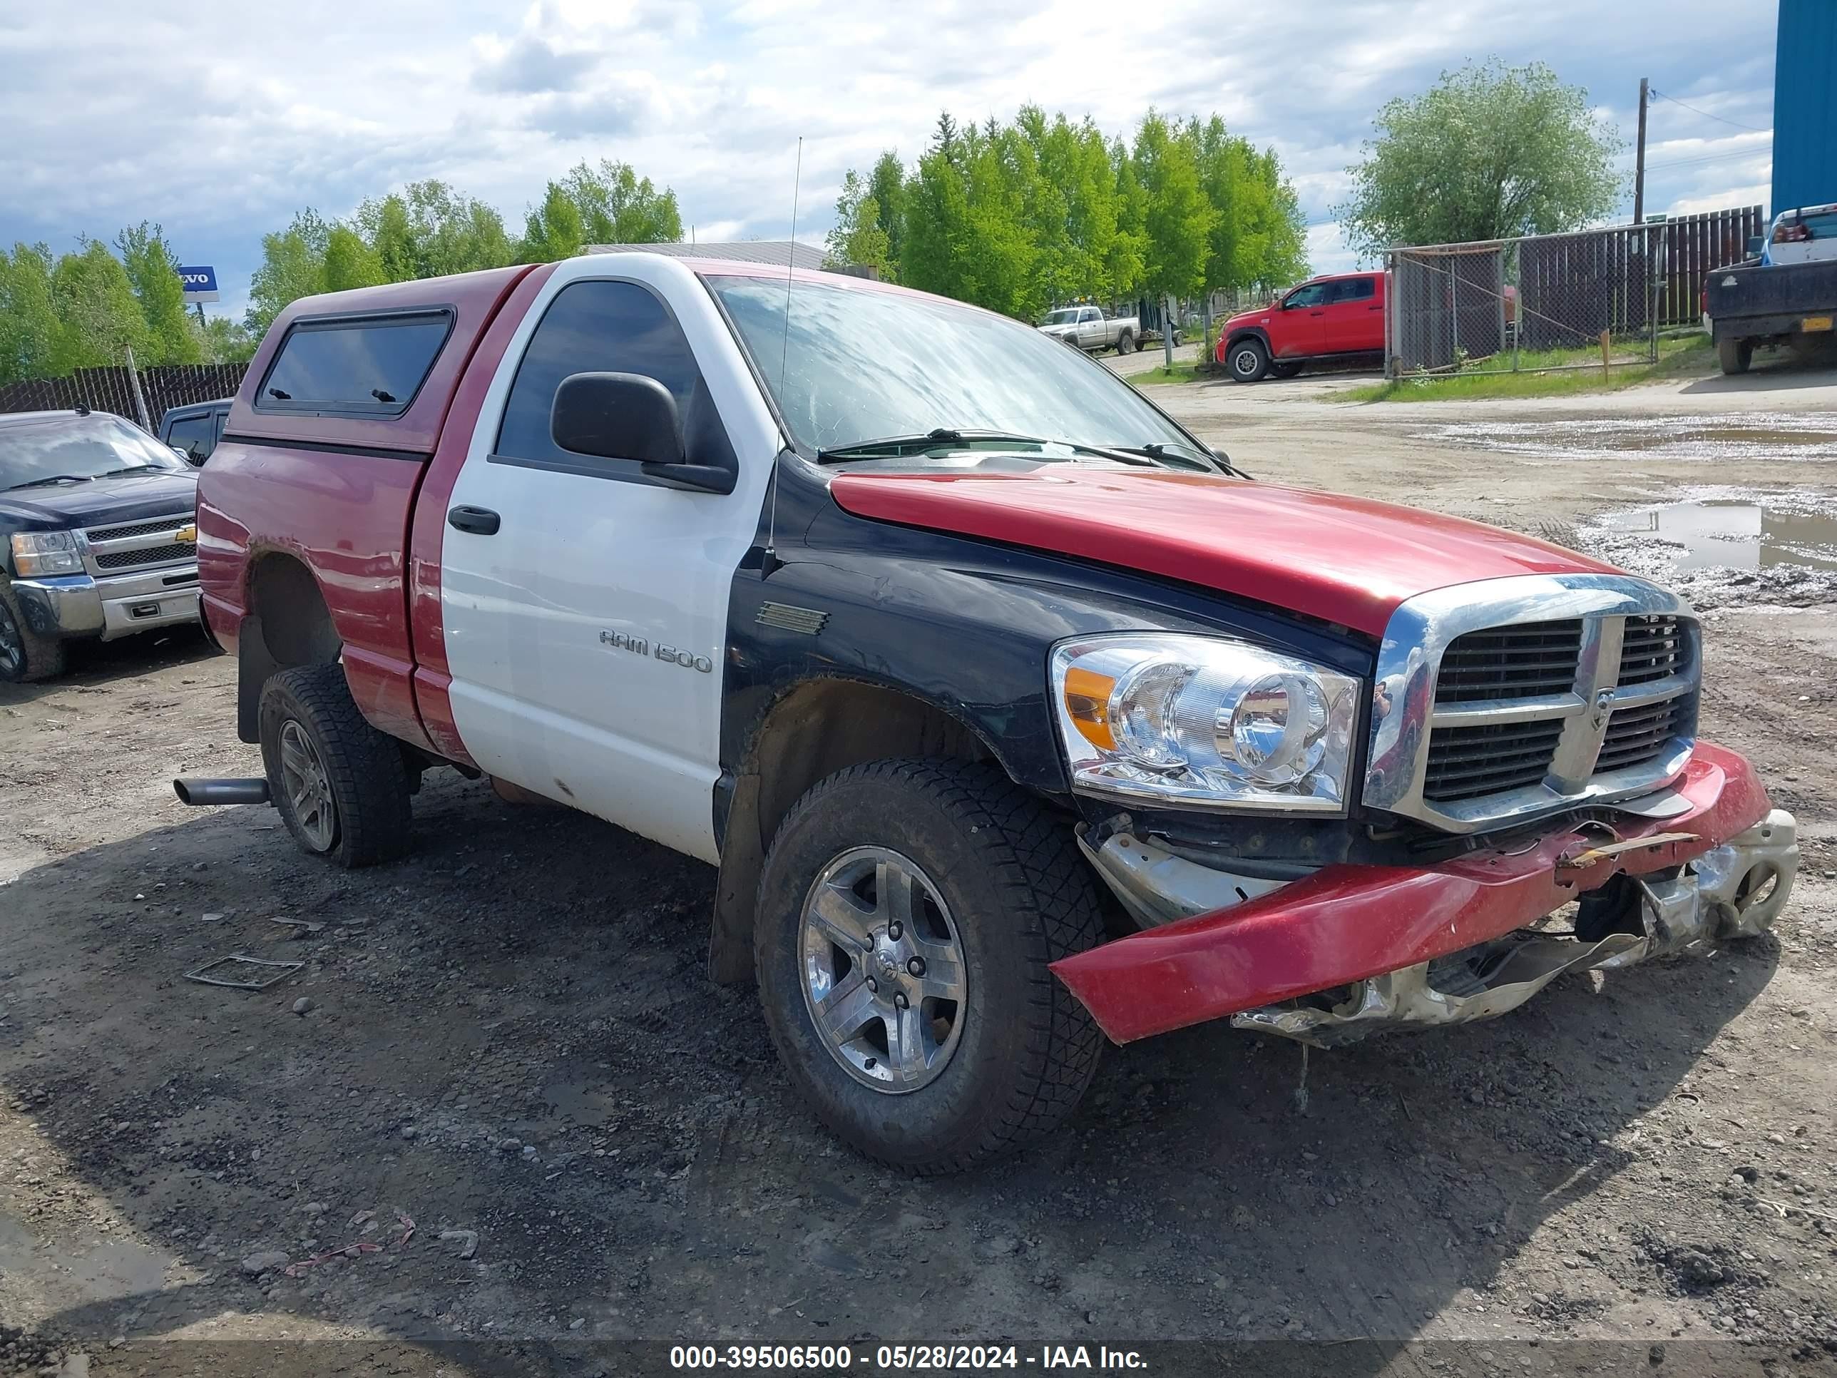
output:
<svg viewBox="0 0 1837 1378"><path fill-rule="evenodd" d="M1100 932L1071 827L1007 775L876 761L812 786L772 840L759 998L838 1137L957 1172L1076 1108L1102 1034L1049 963Z"/></svg>

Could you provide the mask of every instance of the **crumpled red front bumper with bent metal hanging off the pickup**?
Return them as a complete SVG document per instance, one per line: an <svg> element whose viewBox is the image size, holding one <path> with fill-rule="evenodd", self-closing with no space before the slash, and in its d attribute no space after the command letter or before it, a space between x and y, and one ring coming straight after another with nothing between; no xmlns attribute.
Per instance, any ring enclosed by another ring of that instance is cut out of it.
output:
<svg viewBox="0 0 1837 1378"><path fill-rule="evenodd" d="M1284 886L1111 838L1086 854L1157 926L1053 970L1119 1044L1229 1016L1335 1045L1493 1018L1563 972L1707 950L1778 917L1797 829L1745 759L1699 742L1670 790L1622 810L1611 840L1583 823L1438 865L1328 865ZM1628 898L1613 932L1530 928L1611 882Z"/></svg>

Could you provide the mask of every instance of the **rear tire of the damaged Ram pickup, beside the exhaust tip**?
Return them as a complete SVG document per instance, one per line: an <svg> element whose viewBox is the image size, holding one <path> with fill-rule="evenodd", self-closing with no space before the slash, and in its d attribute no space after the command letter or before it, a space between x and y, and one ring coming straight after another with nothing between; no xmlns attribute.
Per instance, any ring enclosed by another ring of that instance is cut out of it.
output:
<svg viewBox="0 0 1837 1378"><path fill-rule="evenodd" d="M345 867L408 851L408 766L364 720L344 665L296 665L261 691L268 797L299 849Z"/></svg>

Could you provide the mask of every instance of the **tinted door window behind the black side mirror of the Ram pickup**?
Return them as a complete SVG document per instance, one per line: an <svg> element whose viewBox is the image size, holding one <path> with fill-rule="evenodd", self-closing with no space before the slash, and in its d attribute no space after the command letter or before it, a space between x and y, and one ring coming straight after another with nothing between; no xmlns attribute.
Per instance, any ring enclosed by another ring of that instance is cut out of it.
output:
<svg viewBox="0 0 1837 1378"><path fill-rule="evenodd" d="M555 390L571 373L656 378L676 399L691 446L696 430L693 413L705 417L709 412L689 342L661 301L637 283L573 283L549 303L516 367L498 428L500 456L582 463L582 456L569 454L549 437Z"/></svg>

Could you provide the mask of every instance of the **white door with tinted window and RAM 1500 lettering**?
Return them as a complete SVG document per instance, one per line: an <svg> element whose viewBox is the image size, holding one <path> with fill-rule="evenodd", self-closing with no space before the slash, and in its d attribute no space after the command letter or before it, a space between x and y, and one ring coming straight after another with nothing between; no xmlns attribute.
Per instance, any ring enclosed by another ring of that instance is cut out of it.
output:
<svg viewBox="0 0 1837 1378"><path fill-rule="evenodd" d="M661 382L691 463L731 450L735 491L663 487L557 446L555 390L588 371ZM727 597L779 445L689 268L612 254L557 266L490 380L443 531L448 693L479 768L718 860Z"/></svg>

